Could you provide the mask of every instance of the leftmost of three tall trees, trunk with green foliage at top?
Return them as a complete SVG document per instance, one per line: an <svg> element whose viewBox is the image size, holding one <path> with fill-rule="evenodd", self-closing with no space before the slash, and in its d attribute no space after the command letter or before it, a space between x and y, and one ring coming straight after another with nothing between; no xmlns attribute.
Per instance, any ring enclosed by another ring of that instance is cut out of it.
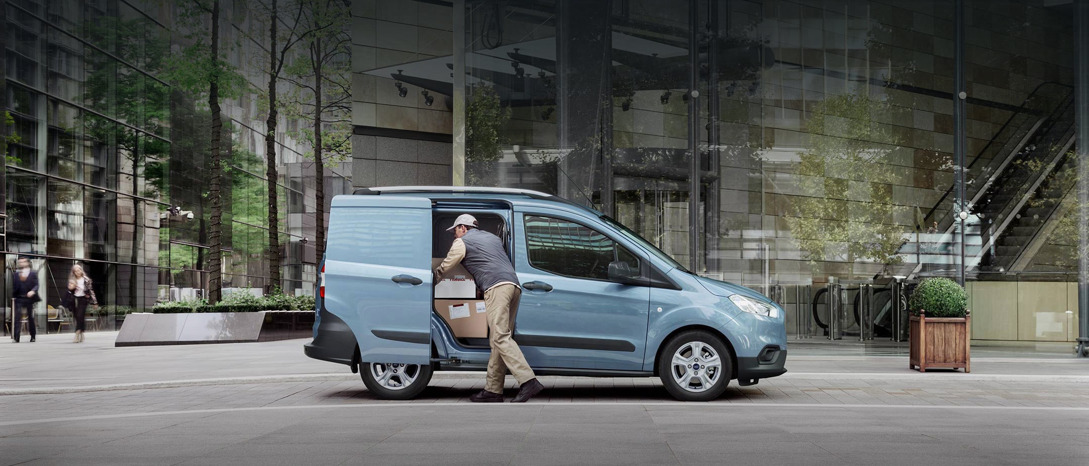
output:
<svg viewBox="0 0 1089 466"><path fill-rule="evenodd" d="M219 0L180 0L178 25L186 45L172 53L164 76L179 88L207 97L210 121L207 204L208 220L208 303L222 297L222 143L223 114L220 97L237 97L246 88L246 78L224 59L232 47L220 36Z"/></svg>

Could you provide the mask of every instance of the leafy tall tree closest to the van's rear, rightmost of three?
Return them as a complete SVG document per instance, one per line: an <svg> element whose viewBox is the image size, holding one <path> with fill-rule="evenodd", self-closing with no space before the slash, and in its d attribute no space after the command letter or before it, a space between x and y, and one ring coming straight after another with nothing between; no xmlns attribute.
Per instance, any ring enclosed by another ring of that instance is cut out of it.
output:
<svg viewBox="0 0 1089 466"><path fill-rule="evenodd" d="M352 154L351 36L348 4L344 0L303 0L302 27L308 34L305 54L287 71L296 91L287 108L294 118L313 119L314 125L294 135L314 150L315 249L326 253L326 162L339 163Z"/></svg>

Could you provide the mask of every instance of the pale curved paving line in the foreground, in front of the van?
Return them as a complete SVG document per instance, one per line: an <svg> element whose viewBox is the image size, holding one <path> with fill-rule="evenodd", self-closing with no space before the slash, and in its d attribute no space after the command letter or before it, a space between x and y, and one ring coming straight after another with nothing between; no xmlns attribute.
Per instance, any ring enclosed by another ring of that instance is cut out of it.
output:
<svg viewBox="0 0 1089 466"><path fill-rule="evenodd" d="M644 407L668 407L668 408L698 408L708 409L717 407L727 407L727 408L852 408L852 409L865 409L865 408L880 408L880 409L969 409L969 410L1061 410L1061 412L1089 412L1089 406L980 406L980 405L882 405L882 404L821 404L821 403L717 403L717 402L541 402L541 403L455 403L455 402L439 402L439 403L339 403L339 404L320 404L320 405L283 405L283 406L250 406L250 407L233 407L233 408L211 408L211 409L189 409L189 410L162 410L162 412L145 412L145 413L123 413L123 414L103 414L103 415L91 415L91 416L74 416L74 417L54 417L46 419L24 419L24 420L10 420L0 421L0 427L5 426L20 426L27 424L47 424L47 422L71 422L77 420L99 420L99 419L119 419L129 417L148 417L148 416L174 416L174 415L217 415L222 413L233 413L233 412L254 412L254 410L280 410L280 409L344 409L344 408L382 408L382 407L395 407L395 408L411 408L411 407L470 407L470 409L518 409L518 408L535 408L541 409L551 406L644 406Z"/></svg>

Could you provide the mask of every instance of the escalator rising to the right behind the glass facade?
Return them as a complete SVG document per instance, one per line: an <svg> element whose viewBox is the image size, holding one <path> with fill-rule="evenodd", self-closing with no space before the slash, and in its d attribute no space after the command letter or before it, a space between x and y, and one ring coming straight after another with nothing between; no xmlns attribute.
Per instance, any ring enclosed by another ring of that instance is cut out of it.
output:
<svg viewBox="0 0 1089 466"><path fill-rule="evenodd" d="M1073 89L1043 83L1018 109L965 168L966 279L980 271L1010 270L1068 192L1065 177L1056 180L1053 173L1067 162L1065 155L1074 144ZM960 254L952 247L958 241L954 232L959 209L954 198L951 186L923 222L938 223L937 232L919 234L902 249L919 257L909 275L953 271ZM927 255L927 250L938 253Z"/></svg>

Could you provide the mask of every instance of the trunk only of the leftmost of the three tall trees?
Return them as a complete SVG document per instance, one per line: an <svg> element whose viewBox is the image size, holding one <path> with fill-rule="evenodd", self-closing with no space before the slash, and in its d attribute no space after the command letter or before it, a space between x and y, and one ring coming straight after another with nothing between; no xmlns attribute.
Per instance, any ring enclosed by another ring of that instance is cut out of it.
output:
<svg viewBox="0 0 1089 466"><path fill-rule="evenodd" d="M212 2L211 11L211 58L213 70L219 64L219 0ZM222 277L220 274L220 249L222 242L221 223L223 212L220 203L220 179L223 169L220 167L220 144L223 132L223 120L219 108L219 73L213 72L208 86L208 108L211 110L211 170L208 180L208 205L211 217L208 224L208 304L219 303L222 297ZM199 265L198 265L199 267Z"/></svg>

